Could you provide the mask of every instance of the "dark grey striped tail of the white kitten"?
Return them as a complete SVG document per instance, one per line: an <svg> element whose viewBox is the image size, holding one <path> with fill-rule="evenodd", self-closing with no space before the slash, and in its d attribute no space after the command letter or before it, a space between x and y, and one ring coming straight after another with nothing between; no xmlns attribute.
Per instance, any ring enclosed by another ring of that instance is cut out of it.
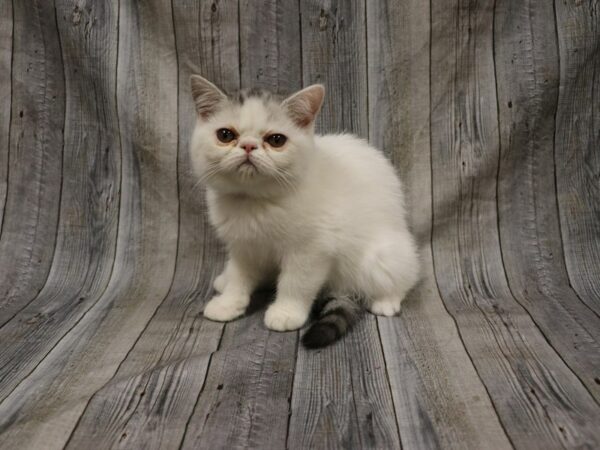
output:
<svg viewBox="0 0 600 450"><path fill-rule="evenodd" d="M351 296L329 297L317 306L316 320L302 336L306 348L321 348L333 344L356 323L363 308Z"/></svg>

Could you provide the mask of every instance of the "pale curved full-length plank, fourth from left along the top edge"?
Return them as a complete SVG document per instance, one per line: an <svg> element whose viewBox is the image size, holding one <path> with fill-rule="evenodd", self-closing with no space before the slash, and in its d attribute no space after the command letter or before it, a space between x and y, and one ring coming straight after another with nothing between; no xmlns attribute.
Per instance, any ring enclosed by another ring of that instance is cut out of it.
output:
<svg viewBox="0 0 600 450"><path fill-rule="evenodd" d="M123 176L113 277L104 295L0 404L0 446L62 448L172 281L178 202L171 3L121 2L119 28L128 32L120 34L117 63Z"/></svg>

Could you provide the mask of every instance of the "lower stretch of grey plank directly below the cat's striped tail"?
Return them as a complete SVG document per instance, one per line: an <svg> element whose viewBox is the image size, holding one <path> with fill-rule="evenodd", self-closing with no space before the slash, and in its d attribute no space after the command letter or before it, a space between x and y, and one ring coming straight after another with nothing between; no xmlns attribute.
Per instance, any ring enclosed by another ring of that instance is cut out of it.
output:
<svg viewBox="0 0 600 450"><path fill-rule="evenodd" d="M323 350L298 349L289 448L400 448L374 322Z"/></svg>

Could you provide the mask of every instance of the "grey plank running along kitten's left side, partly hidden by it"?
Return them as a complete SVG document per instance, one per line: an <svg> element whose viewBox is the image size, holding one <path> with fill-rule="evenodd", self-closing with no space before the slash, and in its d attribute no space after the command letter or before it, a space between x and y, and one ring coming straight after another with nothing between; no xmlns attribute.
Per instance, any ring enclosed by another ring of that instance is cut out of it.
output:
<svg viewBox="0 0 600 450"><path fill-rule="evenodd" d="M239 87L238 17L234 2L174 3L179 67L180 223L169 295L113 378L89 402L69 448L179 448L223 325L201 315L222 265L222 249L206 220L203 192L190 171L196 120L189 77L200 72L224 89ZM190 20L190 17L198 20Z"/></svg>

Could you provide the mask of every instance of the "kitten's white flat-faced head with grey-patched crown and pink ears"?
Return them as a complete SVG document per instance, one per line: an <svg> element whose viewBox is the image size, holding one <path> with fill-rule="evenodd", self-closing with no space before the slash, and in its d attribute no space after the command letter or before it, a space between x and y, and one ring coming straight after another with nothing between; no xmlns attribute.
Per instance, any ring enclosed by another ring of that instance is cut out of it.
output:
<svg viewBox="0 0 600 450"><path fill-rule="evenodd" d="M293 190L314 151L321 85L285 99L261 90L227 96L191 77L197 123L191 142L195 173L215 190L270 196Z"/></svg>

